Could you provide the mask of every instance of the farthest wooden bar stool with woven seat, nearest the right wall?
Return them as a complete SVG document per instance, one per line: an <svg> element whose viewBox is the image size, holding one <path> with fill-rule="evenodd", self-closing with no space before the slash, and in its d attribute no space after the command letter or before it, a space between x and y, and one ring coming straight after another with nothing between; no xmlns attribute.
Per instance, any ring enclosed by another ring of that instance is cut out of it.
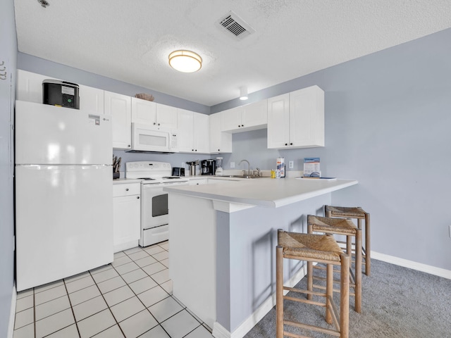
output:
<svg viewBox="0 0 451 338"><path fill-rule="evenodd" d="M338 218L356 218L357 227L362 229L362 220L365 220L365 245L362 246L362 265L365 265L365 275L371 275L371 235L369 224L369 213L364 209L357 207L347 206L324 206L324 215L326 217L338 217Z"/></svg>

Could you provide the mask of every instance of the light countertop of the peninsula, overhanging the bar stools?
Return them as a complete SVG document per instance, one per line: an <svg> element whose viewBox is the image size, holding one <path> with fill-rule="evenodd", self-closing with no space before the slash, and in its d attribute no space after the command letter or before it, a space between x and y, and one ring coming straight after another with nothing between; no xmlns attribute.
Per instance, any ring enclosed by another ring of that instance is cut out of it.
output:
<svg viewBox="0 0 451 338"><path fill-rule="evenodd" d="M257 178L229 184L164 187L166 192L235 204L278 208L357 184L356 180L297 180Z"/></svg>

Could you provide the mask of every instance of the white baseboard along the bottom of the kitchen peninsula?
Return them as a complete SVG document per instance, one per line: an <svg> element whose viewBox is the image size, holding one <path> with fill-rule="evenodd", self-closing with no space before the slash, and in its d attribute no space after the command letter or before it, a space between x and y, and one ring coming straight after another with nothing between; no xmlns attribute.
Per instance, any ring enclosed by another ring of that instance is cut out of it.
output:
<svg viewBox="0 0 451 338"><path fill-rule="evenodd" d="M288 282L285 282L285 286L294 287L297 283L299 283L302 278L307 274L307 264L293 275ZM284 294L288 294L288 290L283 292ZM257 325L259 321L264 318L266 313L271 311L271 309L276 306L276 294L272 294L269 296L266 301L261 303L261 305L257 308L257 310L249 315L249 317L238 326L232 333L230 333L226 328L224 328L218 322L215 322L213 325L213 337L215 338L242 338L245 337L247 332L249 332L252 327Z"/></svg>

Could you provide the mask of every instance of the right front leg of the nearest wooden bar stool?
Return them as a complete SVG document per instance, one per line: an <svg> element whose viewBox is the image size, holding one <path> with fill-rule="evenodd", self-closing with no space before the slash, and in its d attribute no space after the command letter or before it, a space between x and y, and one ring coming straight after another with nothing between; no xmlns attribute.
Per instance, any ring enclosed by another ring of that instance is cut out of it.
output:
<svg viewBox="0 0 451 338"><path fill-rule="evenodd" d="M341 254L340 268L340 338L350 331L350 256Z"/></svg>

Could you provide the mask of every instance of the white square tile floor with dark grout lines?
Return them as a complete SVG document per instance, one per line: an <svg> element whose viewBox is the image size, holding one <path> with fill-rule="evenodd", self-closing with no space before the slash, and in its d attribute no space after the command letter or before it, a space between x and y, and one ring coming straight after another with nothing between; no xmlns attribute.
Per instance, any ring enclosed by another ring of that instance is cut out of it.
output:
<svg viewBox="0 0 451 338"><path fill-rule="evenodd" d="M172 296L168 242L114 254L109 265L23 292L13 338L212 338Z"/></svg>

